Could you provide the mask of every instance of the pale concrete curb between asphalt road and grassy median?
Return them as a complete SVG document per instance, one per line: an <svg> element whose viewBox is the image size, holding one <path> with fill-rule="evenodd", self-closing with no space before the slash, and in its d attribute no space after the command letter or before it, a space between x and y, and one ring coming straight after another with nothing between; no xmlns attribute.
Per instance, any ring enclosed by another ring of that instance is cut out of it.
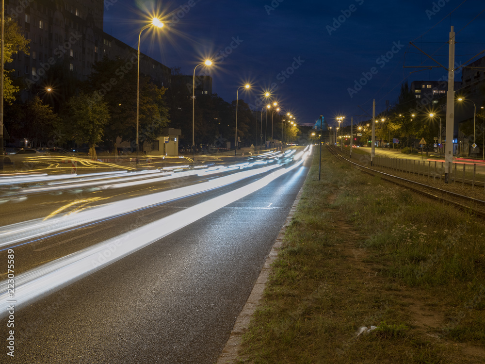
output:
<svg viewBox="0 0 485 364"><path fill-rule="evenodd" d="M236 323L234 324L234 327L232 328L229 339L227 339L226 345L222 350L221 355L219 355L219 359L217 360L216 364L237 363L237 354L241 347L242 334L247 331L251 316L256 311L259 300L263 297L263 291L266 287L266 282L268 281L271 273L271 265L278 257L278 251L283 244L283 237L285 236L286 229L291 224L291 220L293 220L293 215L296 211L296 206L301 199L302 190L303 186L302 188L300 188L300 191L298 191L298 194L296 195L296 199L290 209L290 213L286 217L285 224L281 228L278 237L276 238L275 244L273 245L273 248L271 248L268 257L266 258L266 262L264 263L264 266L259 273L259 277L254 284L253 290L251 291L251 294L249 295L246 304L242 308L242 311L239 314Z"/></svg>

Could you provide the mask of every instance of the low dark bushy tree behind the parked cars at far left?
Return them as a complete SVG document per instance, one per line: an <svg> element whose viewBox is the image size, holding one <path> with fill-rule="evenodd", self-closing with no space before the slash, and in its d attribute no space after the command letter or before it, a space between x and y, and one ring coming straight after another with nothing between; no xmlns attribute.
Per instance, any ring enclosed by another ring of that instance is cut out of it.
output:
<svg viewBox="0 0 485 364"><path fill-rule="evenodd" d="M49 105L38 97L25 104L14 104L6 114L6 127L12 137L27 139L32 146L55 146L64 142L61 121Z"/></svg>

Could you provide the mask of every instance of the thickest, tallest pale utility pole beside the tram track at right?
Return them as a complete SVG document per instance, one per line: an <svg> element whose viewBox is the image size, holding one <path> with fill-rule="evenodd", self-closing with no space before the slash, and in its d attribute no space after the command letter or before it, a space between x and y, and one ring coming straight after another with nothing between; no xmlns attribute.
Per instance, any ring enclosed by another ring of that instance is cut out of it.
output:
<svg viewBox="0 0 485 364"><path fill-rule="evenodd" d="M454 130L454 45L453 26L450 31L450 52L448 58L448 93L446 94L446 134L445 134L445 183L449 183L453 168L453 130Z"/></svg>

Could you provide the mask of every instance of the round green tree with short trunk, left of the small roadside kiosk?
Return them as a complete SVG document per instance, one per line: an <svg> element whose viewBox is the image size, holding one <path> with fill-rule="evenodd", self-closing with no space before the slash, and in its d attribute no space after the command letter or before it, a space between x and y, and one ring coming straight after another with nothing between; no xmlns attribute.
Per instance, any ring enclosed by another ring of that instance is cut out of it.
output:
<svg viewBox="0 0 485 364"><path fill-rule="evenodd" d="M107 103L98 95L81 92L67 101L63 116L66 137L77 144L88 144L95 157L94 146L102 140L110 119Z"/></svg>

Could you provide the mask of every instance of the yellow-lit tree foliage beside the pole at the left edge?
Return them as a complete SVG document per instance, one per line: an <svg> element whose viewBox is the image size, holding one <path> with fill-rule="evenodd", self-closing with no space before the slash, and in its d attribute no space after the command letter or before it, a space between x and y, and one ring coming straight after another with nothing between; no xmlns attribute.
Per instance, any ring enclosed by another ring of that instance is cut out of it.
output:
<svg viewBox="0 0 485 364"><path fill-rule="evenodd" d="M3 29L3 64L13 61L13 55L22 51L26 55L29 55L28 44L30 39L25 39L20 26L11 17L4 17L4 29ZM18 92L19 87L12 83L12 79L9 77L9 73L14 69L3 70L3 99L8 104L12 104L15 100L15 93Z"/></svg>

